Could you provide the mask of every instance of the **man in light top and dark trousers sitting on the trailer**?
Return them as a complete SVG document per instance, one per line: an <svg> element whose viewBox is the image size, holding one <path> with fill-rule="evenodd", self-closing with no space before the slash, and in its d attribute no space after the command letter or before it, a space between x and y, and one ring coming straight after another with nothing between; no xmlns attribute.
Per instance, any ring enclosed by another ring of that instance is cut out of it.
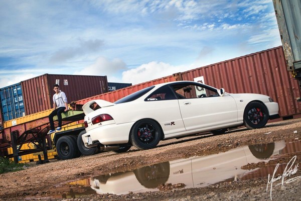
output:
<svg viewBox="0 0 301 201"><path fill-rule="evenodd" d="M53 95L53 111L49 115L50 131L48 134L60 131L62 129L62 113L68 111L67 97L66 94L60 90L58 84L53 85L55 94ZM53 117L58 116L59 125L54 129Z"/></svg>

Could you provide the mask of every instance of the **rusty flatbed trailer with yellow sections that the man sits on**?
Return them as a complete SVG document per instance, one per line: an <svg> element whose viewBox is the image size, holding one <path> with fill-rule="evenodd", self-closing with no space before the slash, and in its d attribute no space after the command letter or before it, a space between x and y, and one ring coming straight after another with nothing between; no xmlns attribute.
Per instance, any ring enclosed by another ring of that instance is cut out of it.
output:
<svg viewBox="0 0 301 201"><path fill-rule="evenodd" d="M81 137L78 138L85 133L82 110L73 109L62 113L62 130L47 135L50 129L48 116L51 112L52 110L47 110L5 122L4 129L0 130L0 156L14 158L18 163L19 156L42 153L44 161L39 156L39 163L44 163L48 161L47 152L53 149L60 159L91 155L99 151L97 147L84 147ZM54 122L57 125L57 116L54 117ZM33 143L35 148L22 149L28 143ZM13 153L9 153L8 148L12 148Z"/></svg>

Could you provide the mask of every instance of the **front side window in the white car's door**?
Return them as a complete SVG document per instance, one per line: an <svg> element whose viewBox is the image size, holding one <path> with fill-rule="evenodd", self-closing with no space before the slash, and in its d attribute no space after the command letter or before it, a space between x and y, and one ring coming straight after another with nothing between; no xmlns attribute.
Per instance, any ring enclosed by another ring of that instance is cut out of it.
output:
<svg viewBox="0 0 301 201"><path fill-rule="evenodd" d="M204 85L195 85L195 84L181 84L174 85L178 98L203 98L203 97L215 97L219 96L217 91L214 88L209 88Z"/></svg>

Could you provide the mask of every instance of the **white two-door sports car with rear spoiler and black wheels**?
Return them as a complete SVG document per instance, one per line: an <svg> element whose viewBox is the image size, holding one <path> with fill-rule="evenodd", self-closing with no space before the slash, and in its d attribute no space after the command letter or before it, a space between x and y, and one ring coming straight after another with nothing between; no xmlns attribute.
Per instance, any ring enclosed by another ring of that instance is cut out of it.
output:
<svg viewBox="0 0 301 201"><path fill-rule="evenodd" d="M149 86L115 103L91 100L83 106L86 147L125 152L132 145L151 149L160 140L229 128L258 129L278 118L278 104L266 95L227 93L199 82Z"/></svg>

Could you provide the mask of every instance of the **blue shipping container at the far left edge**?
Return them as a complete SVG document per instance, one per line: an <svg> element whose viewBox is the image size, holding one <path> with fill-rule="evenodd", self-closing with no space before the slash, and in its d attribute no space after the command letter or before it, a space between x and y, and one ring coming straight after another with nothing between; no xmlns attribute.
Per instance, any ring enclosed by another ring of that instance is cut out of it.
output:
<svg viewBox="0 0 301 201"><path fill-rule="evenodd" d="M0 88L0 98L4 122L25 116L21 83Z"/></svg>

